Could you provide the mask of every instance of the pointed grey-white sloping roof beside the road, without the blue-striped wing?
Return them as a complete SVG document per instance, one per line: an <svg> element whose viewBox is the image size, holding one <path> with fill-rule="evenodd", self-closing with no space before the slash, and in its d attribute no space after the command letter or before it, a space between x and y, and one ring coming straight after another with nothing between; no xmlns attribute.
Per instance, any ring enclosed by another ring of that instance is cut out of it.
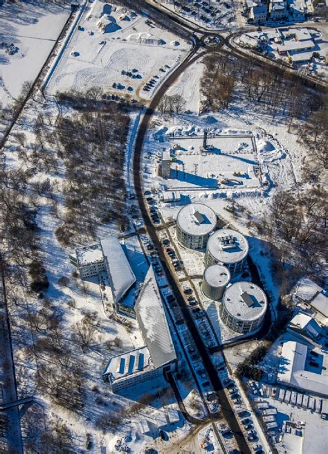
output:
<svg viewBox="0 0 328 454"><path fill-rule="evenodd" d="M174 361L176 352L152 266L149 267L134 310L154 367Z"/></svg>

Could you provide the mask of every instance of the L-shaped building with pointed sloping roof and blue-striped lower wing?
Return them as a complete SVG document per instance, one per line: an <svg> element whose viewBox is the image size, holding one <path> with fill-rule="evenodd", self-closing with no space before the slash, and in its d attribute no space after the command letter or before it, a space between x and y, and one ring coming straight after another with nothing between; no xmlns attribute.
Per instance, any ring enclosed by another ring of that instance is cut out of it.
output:
<svg viewBox="0 0 328 454"><path fill-rule="evenodd" d="M102 377L113 392L165 372L174 372L177 367L176 351L152 266L138 295L135 311L145 345L110 359Z"/></svg>

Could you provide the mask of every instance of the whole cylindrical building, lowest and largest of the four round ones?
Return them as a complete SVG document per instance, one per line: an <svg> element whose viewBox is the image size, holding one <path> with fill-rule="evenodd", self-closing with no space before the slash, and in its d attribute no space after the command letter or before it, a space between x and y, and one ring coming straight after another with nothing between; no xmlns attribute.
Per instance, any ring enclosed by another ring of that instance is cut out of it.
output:
<svg viewBox="0 0 328 454"><path fill-rule="evenodd" d="M261 325L268 300L266 294L252 282L236 282L224 293L220 318L224 325L237 333L249 333Z"/></svg>

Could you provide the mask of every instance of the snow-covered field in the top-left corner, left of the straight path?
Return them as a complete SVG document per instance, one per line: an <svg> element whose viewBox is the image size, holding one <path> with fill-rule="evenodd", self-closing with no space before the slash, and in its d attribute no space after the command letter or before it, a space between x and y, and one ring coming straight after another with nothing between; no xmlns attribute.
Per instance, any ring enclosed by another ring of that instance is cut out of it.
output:
<svg viewBox="0 0 328 454"><path fill-rule="evenodd" d="M1 2L2 3L2 2ZM70 8L43 1L0 6L0 100L12 102L42 68Z"/></svg>

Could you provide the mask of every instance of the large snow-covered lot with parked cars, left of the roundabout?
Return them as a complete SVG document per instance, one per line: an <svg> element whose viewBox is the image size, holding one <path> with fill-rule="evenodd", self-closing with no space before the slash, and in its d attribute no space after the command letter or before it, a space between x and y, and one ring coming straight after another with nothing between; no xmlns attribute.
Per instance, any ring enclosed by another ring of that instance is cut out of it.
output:
<svg viewBox="0 0 328 454"><path fill-rule="evenodd" d="M188 48L147 17L96 0L86 6L48 83L48 93L99 87L149 99ZM154 87L144 91L152 78Z"/></svg>

